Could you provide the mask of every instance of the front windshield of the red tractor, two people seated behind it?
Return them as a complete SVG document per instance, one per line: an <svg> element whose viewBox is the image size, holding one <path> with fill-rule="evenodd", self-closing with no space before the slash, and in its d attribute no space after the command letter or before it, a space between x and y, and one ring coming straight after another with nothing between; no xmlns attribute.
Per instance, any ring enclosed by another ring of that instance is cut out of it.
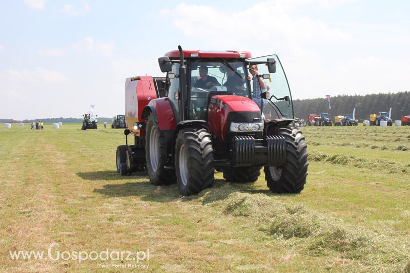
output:
<svg viewBox="0 0 410 273"><path fill-rule="evenodd" d="M243 60L215 59L190 62L189 118L204 119L211 91L250 97Z"/></svg>

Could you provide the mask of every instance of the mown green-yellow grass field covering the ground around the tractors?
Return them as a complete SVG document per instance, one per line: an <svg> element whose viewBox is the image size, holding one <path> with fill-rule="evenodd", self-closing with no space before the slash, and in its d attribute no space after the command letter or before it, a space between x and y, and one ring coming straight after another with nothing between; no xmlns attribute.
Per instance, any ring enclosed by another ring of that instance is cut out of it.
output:
<svg viewBox="0 0 410 273"><path fill-rule="evenodd" d="M410 127L303 128L301 194L270 193L263 172L254 184L216 173L213 188L191 197L119 176L123 130L80 127L0 124L0 271L410 271ZM9 253L49 257L51 243L52 257L66 259ZM72 255L106 249L150 258Z"/></svg>

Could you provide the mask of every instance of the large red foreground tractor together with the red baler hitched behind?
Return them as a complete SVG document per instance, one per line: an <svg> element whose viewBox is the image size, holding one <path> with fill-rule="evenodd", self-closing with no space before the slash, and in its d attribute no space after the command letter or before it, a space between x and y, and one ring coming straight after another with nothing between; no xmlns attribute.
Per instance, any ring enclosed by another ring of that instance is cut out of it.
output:
<svg viewBox="0 0 410 273"><path fill-rule="evenodd" d="M213 185L215 170L241 183L255 182L264 167L272 192L303 190L308 152L302 133L291 126L292 96L276 55L179 46L158 62L166 78L126 81L125 134L134 135L135 144L118 146L118 172L146 168L152 184L176 182L181 195L193 195ZM254 86L263 78L269 98L263 88L251 92L251 65L259 66Z"/></svg>

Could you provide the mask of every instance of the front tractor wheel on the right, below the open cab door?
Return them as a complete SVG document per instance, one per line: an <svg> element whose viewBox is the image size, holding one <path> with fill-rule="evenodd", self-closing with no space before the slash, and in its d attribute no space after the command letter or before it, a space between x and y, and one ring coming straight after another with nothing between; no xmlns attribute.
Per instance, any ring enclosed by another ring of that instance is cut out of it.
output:
<svg viewBox="0 0 410 273"><path fill-rule="evenodd" d="M308 145L298 129L279 128L278 134L286 141L286 161L264 167L265 179L274 193L300 193L308 176Z"/></svg>

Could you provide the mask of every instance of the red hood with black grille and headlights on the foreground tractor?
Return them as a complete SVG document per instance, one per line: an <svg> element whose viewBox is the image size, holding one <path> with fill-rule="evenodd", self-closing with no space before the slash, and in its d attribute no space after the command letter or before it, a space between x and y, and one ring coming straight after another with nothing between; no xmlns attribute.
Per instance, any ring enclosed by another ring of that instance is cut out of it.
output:
<svg viewBox="0 0 410 273"><path fill-rule="evenodd" d="M259 132L232 132L232 122L263 123L260 109L251 99L233 95L213 96L208 106L208 128L219 141L231 141L233 135L256 137L259 134Z"/></svg>

